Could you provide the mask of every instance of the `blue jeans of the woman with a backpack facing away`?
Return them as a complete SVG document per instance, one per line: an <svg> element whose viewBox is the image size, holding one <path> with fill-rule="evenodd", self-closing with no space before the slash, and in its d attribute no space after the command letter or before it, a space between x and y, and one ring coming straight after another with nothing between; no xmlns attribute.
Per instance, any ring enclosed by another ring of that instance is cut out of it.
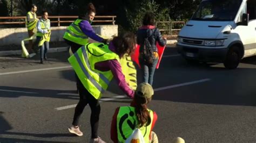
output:
<svg viewBox="0 0 256 143"><path fill-rule="evenodd" d="M145 63L143 59L139 58L139 65L142 68L142 81L153 84L154 70L156 70L158 58L153 60L152 64Z"/></svg>

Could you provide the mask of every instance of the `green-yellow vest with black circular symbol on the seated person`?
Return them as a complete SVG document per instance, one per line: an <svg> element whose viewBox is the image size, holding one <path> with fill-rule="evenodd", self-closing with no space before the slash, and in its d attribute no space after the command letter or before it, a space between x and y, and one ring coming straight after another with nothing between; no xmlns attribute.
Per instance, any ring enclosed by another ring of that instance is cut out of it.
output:
<svg viewBox="0 0 256 143"><path fill-rule="evenodd" d="M142 126L139 130L142 132L145 142L149 142L151 126L153 122L153 111L150 112L151 123L148 126ZM132 132L138 126L138 119L136 116L135 108L132 106L121 106L117 114L117 135L118 142L125 142L130 137Z"/></svg>

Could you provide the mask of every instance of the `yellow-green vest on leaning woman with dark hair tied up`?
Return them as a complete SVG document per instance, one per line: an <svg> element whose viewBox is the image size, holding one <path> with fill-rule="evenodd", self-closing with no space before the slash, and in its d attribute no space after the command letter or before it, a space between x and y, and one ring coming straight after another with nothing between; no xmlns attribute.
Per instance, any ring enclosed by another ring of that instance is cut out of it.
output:
<svg viewBox="0 0 256 143"><path fill-rule="evenodd" d="M70 26L66 29L63 38L75 42L79 45L87 44L89 39L79 27L79 23L81 21L81 19L76 19L75 22L71 23Z"/></svg>

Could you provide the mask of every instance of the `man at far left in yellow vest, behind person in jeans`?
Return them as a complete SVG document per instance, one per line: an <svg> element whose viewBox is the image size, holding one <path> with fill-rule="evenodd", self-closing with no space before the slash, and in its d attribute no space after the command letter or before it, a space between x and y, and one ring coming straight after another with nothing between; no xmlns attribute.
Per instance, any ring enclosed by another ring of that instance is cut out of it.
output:
<svg viewBox="0 0 256 143"><path fill-rule="evenodd" d="M26 14L26 27L28 28L29 37L35 34L33 32L38 22L36 11L37 11L37 6L35 4L32 4L31 10ZM28 51L29 53L33 52L33 40L29 40Z"/></svg>

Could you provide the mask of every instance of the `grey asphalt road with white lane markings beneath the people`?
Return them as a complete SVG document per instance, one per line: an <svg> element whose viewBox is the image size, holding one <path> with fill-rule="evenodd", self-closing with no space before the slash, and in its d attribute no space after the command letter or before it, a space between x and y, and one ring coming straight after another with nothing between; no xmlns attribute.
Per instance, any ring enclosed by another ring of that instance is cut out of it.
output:
<svg viewBox="0 0 256 143"><path fill-rule="evenodd" d="M227 70L223 64L188 65L175 48L164 56L149 105L158 115L159 142L256 142L256 57ZM36 58L0 58L0 142L89 142L89 107L80 119L83 137L68 132L78 95L67 57L50 53L45 65ZM130 103L120 95L112 81L100 103L99 136L107 142L114 110Z"/></svg>

